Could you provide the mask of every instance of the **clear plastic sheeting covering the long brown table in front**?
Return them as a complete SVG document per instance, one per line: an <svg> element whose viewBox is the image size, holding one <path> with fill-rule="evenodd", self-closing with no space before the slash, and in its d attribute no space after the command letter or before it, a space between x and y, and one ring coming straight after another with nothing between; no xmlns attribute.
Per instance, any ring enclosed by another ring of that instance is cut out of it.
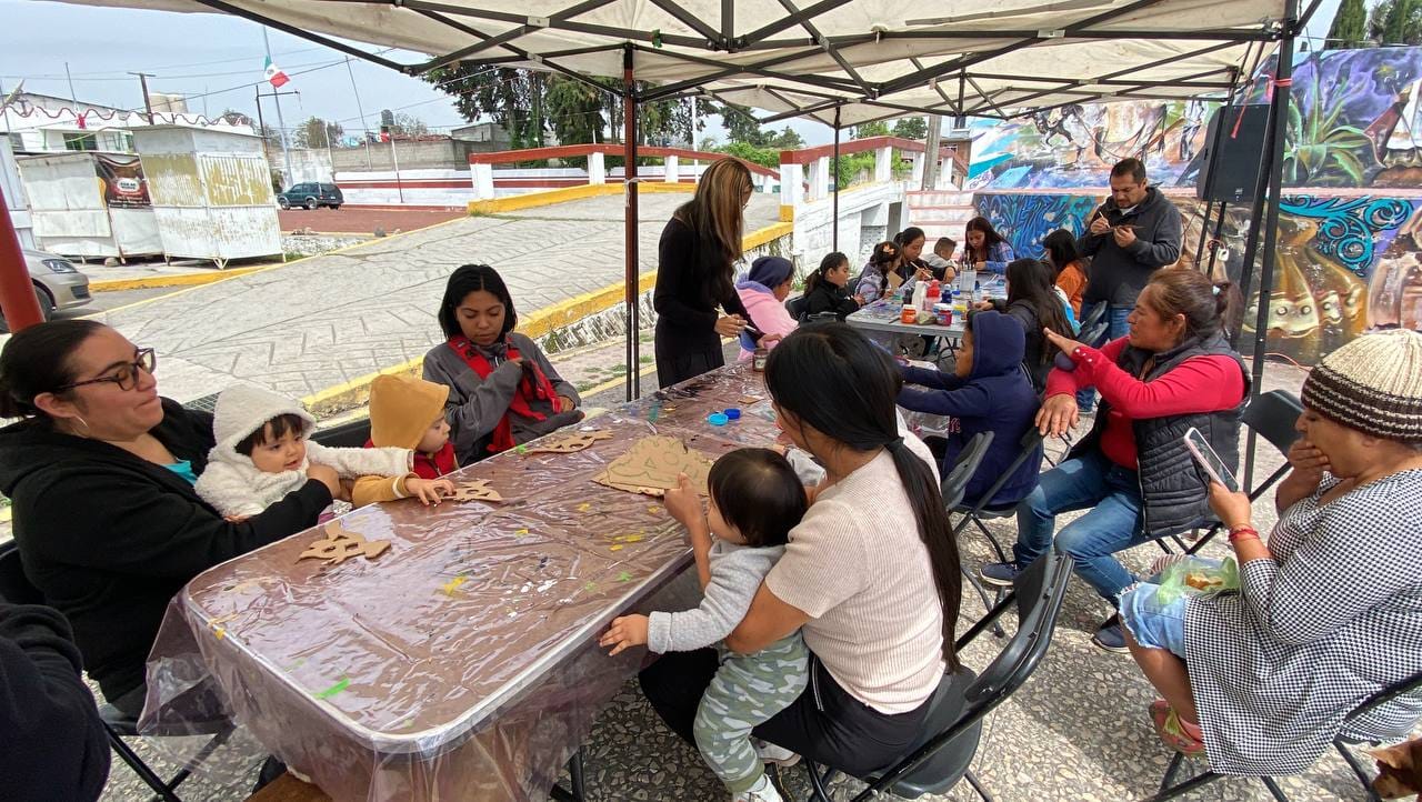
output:
<svg viewBox="0 0 1422 802"><path fill-rule="evenodd" d="M674 583L691 552L663 503L593 476L651 434L712 458L768 445L762 415L707 422L752 397L766 398L761 374L722 368L587 421L613 437L586 451L508 452L451 476L488 479L503 503L340 518L391 542L374 560L299 560L317 528L202 573L149 657L142 729L229 710L336 799L545 798L646 657L609 657L597 636L627 611L697 602Z"/></svg>

